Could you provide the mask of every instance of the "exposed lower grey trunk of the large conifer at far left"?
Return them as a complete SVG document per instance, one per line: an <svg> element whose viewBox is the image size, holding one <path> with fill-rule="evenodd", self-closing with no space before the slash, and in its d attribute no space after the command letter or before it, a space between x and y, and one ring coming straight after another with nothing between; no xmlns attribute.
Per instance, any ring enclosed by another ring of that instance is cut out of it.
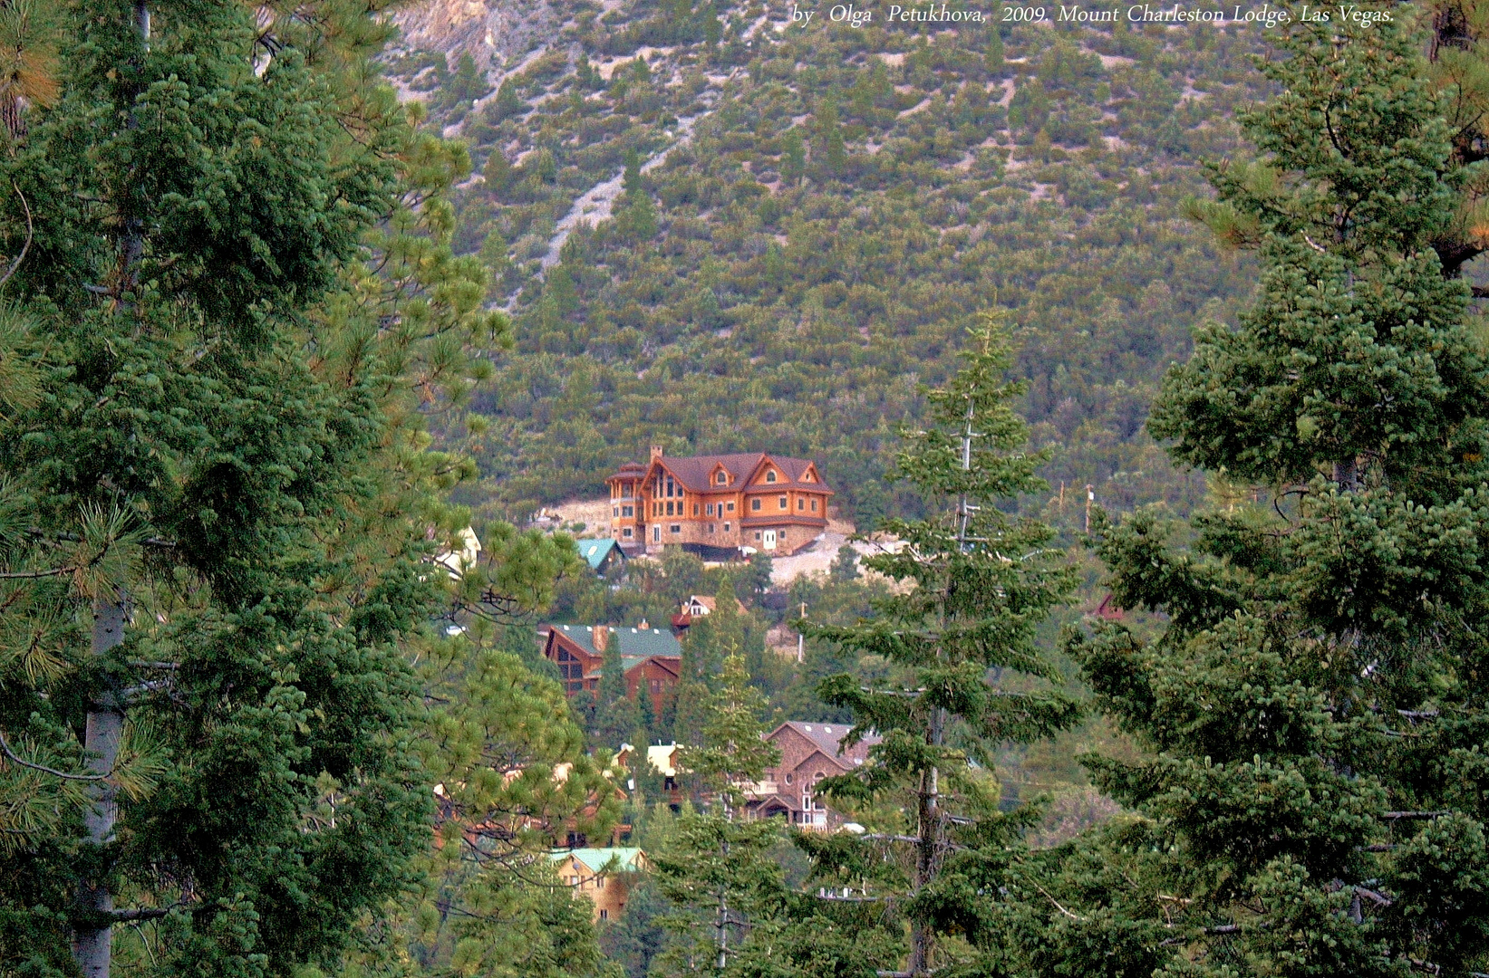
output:
<svg viewBox="0 0 1489 978"><path fill-rule="evenodd" d="M122 592L94 603L92 655L106 655L124 642L124 627L128 621L128 606ZM88 770L107 774L119 758L119 740L124 735L124 709L106 692L88 706L88 728L83 747L88 752ZM88 841L97 847L113 841L113 823L119 814L116 789L109 782L91 782L88 786L91 804L83 811L83 828ZM100 869L100 874L106 869ZM73 924L73 959L83 978L109 978L109 962L113 950L113 927L106 914L113 910L113 893L103 878L83 880L77 887L79 918Z"/></svg>

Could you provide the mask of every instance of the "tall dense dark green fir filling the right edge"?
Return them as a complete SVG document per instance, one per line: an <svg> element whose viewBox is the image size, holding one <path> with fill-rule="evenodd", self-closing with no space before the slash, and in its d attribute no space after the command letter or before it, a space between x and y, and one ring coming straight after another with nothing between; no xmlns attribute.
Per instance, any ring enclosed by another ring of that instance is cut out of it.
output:
<svg viewBox="0 0 1489 978"><path fill-rule="evenodd" d="M1042 971L1489 966L1489 377L1434 250L1470 174L1406 10L1368 9L1288 28L1243 116L1263 156L1199 208L1260 296L1199 332L1152 429L1266 502L1196 515L1190 552L1151 512L1096 522L1115 601L1167 622L1071 640L1144 750L1085 761L1136 817L1004 877L1005 948Z"/></svg>

